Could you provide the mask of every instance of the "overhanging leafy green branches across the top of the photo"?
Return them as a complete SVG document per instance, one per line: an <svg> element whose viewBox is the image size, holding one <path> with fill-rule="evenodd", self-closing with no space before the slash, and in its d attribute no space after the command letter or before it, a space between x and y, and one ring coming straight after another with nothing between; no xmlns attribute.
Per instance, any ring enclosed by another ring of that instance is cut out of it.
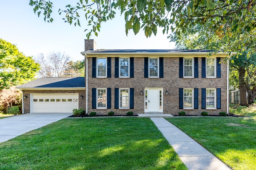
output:
<svg viewBox="0 0 256 170"><path fill-rule="evenodd" d="M200 34L211 39L208 30L223 37L237 37L240 33L251 32L256 28L255 0L76 0L70 1L59 14L64 13L64 21L80 25L80 16L88 21L87 37L100 32L103 21L112 20L116 11L124 13L126 34L129 29L138 33L144 30L148 37L156 35L158 27L162 32L185 33L187 28L200 24ZM44 20L52 22L51 0L30 0L34 12Z"/></svg>

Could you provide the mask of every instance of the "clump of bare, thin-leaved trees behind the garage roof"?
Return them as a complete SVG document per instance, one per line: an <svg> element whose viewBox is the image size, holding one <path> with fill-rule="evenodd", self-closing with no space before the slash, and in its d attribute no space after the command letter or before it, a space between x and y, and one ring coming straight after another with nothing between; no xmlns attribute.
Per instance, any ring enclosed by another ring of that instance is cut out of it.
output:
<svg viewBox="0 0 256 170"><path fill-rule="evenodd" d="M65 53L41 53L35 60L40 64L38 74L42 77L84 76L84 61L73 62Z"/></svg>

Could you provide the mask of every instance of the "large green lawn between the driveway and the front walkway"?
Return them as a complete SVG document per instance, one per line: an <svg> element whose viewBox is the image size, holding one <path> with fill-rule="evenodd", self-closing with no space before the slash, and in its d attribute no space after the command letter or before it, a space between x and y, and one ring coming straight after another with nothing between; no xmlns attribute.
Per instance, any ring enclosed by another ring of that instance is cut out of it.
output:
<svg viewBox="0 0 256 170"><path fill-rule="evenodd" d="M62 119L0 143L1 170L186 170L149 118Z"/></svg>

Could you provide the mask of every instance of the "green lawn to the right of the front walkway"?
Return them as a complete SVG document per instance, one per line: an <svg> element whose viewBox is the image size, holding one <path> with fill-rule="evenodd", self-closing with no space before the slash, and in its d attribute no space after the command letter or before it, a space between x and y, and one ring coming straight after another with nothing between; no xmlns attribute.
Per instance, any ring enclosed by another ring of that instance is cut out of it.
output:
<svg viewBox="0 0 256 170"><path fill-rule="evenodd" d="M255 118L174 117L167 120L233 170L256 170Z"/></svg>

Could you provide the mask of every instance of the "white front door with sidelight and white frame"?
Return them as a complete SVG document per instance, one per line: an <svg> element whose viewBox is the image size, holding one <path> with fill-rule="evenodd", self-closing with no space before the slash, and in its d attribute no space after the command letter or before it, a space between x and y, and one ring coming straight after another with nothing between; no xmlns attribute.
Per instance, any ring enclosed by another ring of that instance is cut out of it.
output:
<svg viewBox="0 0 256 170"><path fill-rule="evenodd" d="M145 112L163 112L162 88L145 88Z"/></svg>

